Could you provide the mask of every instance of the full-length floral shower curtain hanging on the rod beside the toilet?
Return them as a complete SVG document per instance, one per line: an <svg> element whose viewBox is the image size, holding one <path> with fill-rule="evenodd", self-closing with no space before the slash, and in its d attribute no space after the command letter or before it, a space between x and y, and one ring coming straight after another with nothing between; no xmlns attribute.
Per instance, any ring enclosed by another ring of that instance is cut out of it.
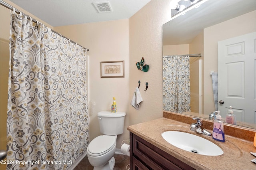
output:
<svg viewBox="0 0 256 170"><path fill-rule="evenodd" d="M88 145L86 50L12 12L8 169L67 169Z"/></svg>

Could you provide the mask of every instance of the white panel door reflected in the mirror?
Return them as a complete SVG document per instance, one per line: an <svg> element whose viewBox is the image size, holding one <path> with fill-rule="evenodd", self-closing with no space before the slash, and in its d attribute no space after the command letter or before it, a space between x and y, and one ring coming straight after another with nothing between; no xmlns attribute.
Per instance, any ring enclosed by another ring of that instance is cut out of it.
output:
<svg viewBox="0 0 256 170"><path fill-rule="evenodd" d="M255 32L218 42L218 100L224 101L218 109L223 116L232 106L237 121L255 123L255 59Z"/></svg>

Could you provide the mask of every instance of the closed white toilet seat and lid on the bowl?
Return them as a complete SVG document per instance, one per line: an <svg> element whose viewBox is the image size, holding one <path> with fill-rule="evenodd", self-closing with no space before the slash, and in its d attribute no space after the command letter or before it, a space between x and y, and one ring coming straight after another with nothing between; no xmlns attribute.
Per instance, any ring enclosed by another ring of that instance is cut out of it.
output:
<svg viewBox="0 0 256 170"><path fill-rule="evenodd" d="M88 145L90 156L100 156L109 152L116 144L115 136L101 135L94 138Z"/></svg>

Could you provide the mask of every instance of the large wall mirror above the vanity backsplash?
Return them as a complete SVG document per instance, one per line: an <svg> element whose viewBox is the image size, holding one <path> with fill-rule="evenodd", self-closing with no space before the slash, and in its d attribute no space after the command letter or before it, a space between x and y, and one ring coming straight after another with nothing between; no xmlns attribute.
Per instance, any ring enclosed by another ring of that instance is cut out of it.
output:
<svg viewBox="0 0 256 170"><path fill-rule="evenodd" d="M189 57L190 106L177 112L208 119L212 112L220 110L225 119L232 106L237 125L255 128L255 3L207 0L163 25L164 110L172 111L168 106L177 100L166 98L175 88L175 83L170 85L166 80L173 78L164 66L165 62L170 63L166 58L200 54ZM185 85L183 89L186 88Z"/></svg>

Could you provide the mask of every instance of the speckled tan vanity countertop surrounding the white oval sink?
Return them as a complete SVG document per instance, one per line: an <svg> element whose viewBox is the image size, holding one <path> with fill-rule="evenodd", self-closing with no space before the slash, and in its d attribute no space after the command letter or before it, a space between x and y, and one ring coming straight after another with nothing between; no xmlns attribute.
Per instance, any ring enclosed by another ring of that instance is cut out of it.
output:
<svg viewBox="0 0 256 170"><path fill-rule="evenodd" d="M255 158L255 156L250 154L250 152L256 152L253 142L228 135L225 135L225 142L219 142L212 139L212 136L197 134L196 132L190 130L189 126L189 124L163 117L160 119L131 125L128 126L127 129L195 169L255 170L255 164L250 161ZM206 138L222 148L224 154L220 156L205 156L177 148L162 138L162 132L168 130L188 132Z"/></svg>

